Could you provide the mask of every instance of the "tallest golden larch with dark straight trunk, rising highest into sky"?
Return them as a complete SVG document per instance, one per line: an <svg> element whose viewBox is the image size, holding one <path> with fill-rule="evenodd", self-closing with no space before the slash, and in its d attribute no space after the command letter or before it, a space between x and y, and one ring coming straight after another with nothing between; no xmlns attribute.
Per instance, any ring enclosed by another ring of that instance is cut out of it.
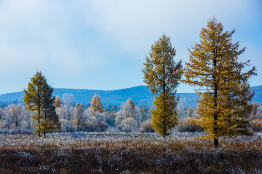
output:
<svg viewBox="0 0 262 174"><path fill-rule="evenodd" d="M200 31L200 43L189 50L189 62L182 70L183 82L199 87L196 89L201 95L197 114L202 117L203 127L213 138L215 147L219 145L219 136L229 135L229 127L238 127L237 120L245 115L244 108L249 107L247 104L252 98L248 78L255 74L255 67L241 72L250 61L237 61L245 48L239 51L239 43L232 43L235 30L223 32L223 29L215 17L209 20L207 27Z"/></svg>

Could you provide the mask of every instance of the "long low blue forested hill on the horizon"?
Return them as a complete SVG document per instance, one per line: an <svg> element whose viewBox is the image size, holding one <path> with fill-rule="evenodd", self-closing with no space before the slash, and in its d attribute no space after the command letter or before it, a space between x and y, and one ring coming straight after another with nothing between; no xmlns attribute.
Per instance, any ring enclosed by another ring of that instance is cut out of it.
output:
<svg viewBox="0 0 262 174"><path fill-rule="evenodd" d="M252 87L255 90L255 96L251 102L259 102L262 105L262 86ZM74 101L80 103L90 103L93 95L97 93L104 105L115 104L120 106L122 102L126 102L129 98L138 104L152 105L153 95L146 86L131 87L118 90L90 90L90 89L66 89L55 88L54 96L63 97L64 93L74 94ZM178 93L181 99L184 99L186 106L197 107L197 95L195 93ZM13 102L15 100L23 101L24 92L14 92L0 95L0 101Z"/></svg>

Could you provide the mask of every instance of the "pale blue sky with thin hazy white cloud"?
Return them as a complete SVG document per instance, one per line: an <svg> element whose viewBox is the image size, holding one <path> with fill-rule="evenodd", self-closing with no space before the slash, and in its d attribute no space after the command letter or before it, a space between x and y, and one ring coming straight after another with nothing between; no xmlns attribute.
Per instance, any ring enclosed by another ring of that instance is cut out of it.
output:
<svg viewBox="0 0 262 174"><path fill-rule="evenodd" d="M213 16L236 29L233 41L246 46L239 61L256 66L250 85L262 85L261 0L0 0L0 94L27 88L37 71L54 88L145 85L151 45L165 33L175 61L187 62Z"/></svg>

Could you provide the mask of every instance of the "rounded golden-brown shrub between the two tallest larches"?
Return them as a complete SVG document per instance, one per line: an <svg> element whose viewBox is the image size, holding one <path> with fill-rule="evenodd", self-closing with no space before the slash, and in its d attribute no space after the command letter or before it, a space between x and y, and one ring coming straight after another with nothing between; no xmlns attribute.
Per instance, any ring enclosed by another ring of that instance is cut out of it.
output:
<svg viewBox="0 0 262 174"><path fill-rule="evenodd" d="M196 118L184 118L182 119L178 126L178 131L204 131L204 129L199 124L199 121Z"/></svg>

